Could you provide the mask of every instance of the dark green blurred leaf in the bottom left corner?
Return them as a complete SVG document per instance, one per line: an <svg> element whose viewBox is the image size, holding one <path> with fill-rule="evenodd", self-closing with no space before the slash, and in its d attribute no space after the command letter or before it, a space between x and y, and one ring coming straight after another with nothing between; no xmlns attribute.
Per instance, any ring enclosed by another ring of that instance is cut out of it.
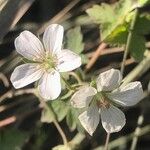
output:
<svg viewBox="0 0 150 150"><path fill-rule="evenodd" d="M0 132L0 150L21 150L27 140L27 133L17 129Z"/></svg>

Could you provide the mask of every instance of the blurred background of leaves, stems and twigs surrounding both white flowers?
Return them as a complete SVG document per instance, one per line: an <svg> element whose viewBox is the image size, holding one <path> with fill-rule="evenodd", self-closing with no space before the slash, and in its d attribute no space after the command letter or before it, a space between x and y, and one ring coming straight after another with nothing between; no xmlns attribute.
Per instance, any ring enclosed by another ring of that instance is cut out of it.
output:
<svg viewBox="0 0 150 150"><path fill-rule="evenodd" d="M109 148L149 150L149 3L149 0L0 0L0 150L103 149L106 133L101 124L92 137L84 131L78 121L79 110L69 102L72 93L65 86L60 98L49 101L43 108L33 93L33 85L15 90L9 81L15 66L22 63L14 39L23 30L41 37L52 23L64 26L64 47L82 57L80 69L64 74L73 86L89 82L112 67L121 69L124 83L142 82L144 99L135 107L123 109L127 123L119 133L111 135ZM69 147L61 145L63 141L54 120L63 129Z"/></svg>

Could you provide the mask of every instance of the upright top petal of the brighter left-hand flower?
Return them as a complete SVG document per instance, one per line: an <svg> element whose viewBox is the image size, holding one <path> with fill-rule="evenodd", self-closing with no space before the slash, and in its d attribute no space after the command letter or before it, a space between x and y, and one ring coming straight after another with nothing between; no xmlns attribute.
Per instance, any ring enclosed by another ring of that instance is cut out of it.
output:
<svg viewBox="0 0 150 150"><path fill-rule="evenodd" d="M48 26L43 35L43 43L46 51L57 53L61 51L64 28L58 24Z"/></svg>

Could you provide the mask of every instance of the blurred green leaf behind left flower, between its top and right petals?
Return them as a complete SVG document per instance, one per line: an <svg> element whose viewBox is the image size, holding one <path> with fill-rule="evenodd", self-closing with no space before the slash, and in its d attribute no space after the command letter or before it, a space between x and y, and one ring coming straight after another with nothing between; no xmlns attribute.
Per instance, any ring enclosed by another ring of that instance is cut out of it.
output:
<svg viewBox="0 0 150 150"><path fill-rule="evenodd" d="M84 49L84 43L82 42L83 35L80 27L75 27L67 32L67 49L80 54Z"/></svg>

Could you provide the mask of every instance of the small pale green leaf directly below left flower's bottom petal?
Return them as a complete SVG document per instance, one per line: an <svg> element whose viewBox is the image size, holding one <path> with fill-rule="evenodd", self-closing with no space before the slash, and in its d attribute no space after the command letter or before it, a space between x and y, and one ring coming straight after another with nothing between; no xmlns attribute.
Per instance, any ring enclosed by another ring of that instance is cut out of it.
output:
<svg viewBox="0 0 150 150"><path fill-rule="evenodd" d="M56 114L57 120L62 121L68 113L69 106L61 99L51 102L51 107Z"/></svg>

